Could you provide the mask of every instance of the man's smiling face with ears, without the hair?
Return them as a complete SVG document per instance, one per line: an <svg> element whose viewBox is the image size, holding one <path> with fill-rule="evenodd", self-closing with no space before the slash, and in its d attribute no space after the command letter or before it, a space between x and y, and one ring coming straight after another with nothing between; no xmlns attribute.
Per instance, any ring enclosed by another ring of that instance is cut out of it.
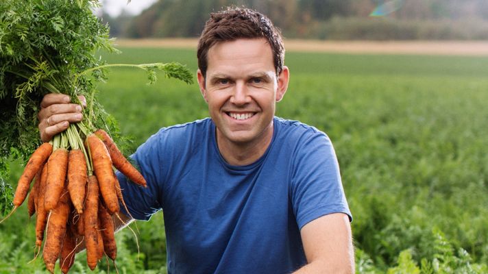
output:
<svg viewBox="0 0 488 274"><path fill-rule="evenodd" d="M276 101L288 86L289 71L276 75L271 47L263 39L219 42L208 51L208 69L198 83L217 140L246 145L271 140Z"/></svg>

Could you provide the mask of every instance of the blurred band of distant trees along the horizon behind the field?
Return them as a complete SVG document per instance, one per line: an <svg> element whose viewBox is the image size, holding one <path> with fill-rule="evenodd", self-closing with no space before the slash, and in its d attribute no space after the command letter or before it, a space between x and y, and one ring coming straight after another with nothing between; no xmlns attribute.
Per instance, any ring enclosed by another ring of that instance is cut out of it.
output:
<svg viewBox="0 0 488 274"><path fill-rule="evenodd" d="M289 38L488 39L488 32L483 31L488 27L486 0L404 0L399 10L385 17L369 17L387 1L160 0L130 23L108 21L118 25L117 36L197 37L210 12L244 5L267 14Z"/></svg>

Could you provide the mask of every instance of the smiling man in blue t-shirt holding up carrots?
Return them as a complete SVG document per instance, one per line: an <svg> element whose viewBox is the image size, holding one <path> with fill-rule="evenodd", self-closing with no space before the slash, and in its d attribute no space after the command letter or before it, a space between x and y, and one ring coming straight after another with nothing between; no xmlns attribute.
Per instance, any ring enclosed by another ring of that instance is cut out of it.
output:
<svg viewBox="0 0 488 274"><path fill-rule="evenodd" d="M245 8L211 14L197 57L210 119L162 128L137 149L148 187L118 174L130 212L121 215L163 210L169 273L353 273L330 140L274 116L289 82L278 29ZM80 121L64 99L42 101L42 140Z"/></svg>

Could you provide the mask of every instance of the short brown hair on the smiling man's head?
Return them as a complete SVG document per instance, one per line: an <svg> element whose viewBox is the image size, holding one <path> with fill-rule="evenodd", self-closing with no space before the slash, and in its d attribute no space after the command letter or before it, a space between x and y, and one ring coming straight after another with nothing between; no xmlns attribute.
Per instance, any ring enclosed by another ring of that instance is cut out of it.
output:
<svg viewBox="0 0 488 274"><path fill-rule="evenodd" d="M265 38L271 46L276 74L284 64L284 47L280 30L265 15L248 8L229 7L210 14L197 48L198 68L206 76L208 50L217 42L239 38Z"/></svg>

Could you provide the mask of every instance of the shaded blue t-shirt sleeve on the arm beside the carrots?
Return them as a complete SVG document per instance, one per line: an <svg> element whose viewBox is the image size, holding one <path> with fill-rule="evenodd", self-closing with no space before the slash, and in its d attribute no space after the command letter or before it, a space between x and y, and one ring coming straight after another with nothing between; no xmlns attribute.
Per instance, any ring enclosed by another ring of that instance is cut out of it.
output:
<svg viewBox="0 0 488 274"><path fill-rule="evenodd" d="M138 186L117 171L123 199L127 210L121 203L121 212L137 220L149 220L151 215L161 209L160 184L162 164L160 162L161 134L151 136L130 156L132 162L146 179L147 188Z"/></svg>

